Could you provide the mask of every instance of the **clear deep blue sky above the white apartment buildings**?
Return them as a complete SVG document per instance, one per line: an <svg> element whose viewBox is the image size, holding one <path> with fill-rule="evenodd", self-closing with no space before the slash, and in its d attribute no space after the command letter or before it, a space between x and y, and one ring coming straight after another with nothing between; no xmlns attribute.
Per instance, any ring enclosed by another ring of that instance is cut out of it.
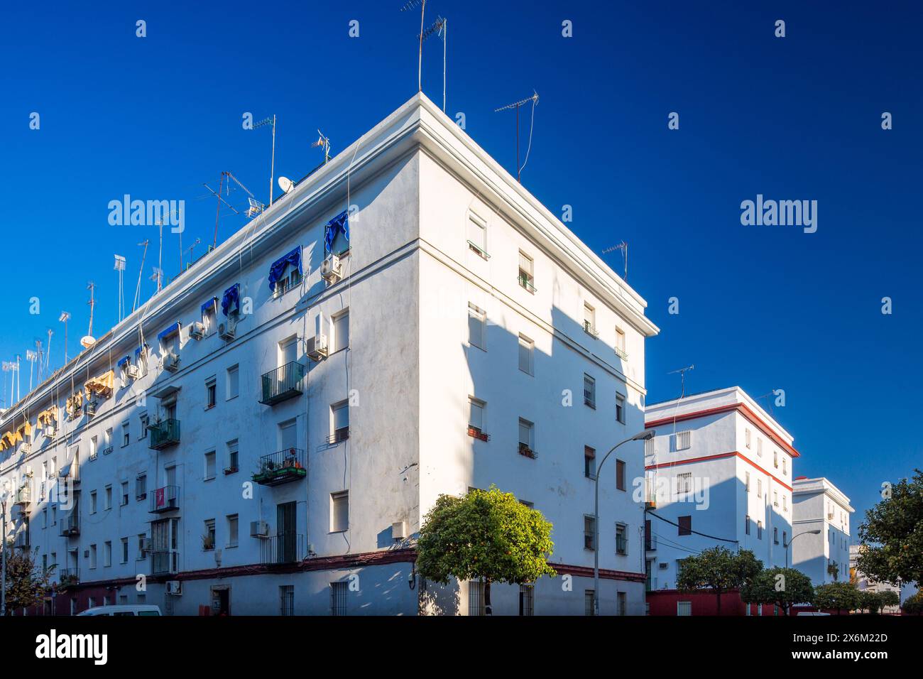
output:
<svg viewBox="0 0 923 679"><path fill-rule="evenodd" d="M0 10L2 358L24 357L53 327L60 366L62 309L73 356L90 279L95 334L111 327L114 253L128 259L130 306L137 243L156 230L110 226L110 200L186 200L184 247L200 237L198 254L214 229L203 182L230 170L265 200L270 134L244 131L245 112L279 116L276 176L296 178L321 159L316 128L336 153L414 94L418 13L399 11L402 0L312 5ZM881 482L923 457L918 4L594 5L431 0L427 23L449 18L448 112L464 112L468 133L513 171L512 115L493 109L539 92L523 183L552 212L572 205L569 226L597 252L629 242L629 282L662 328L647 345L649 401L676 397L666 373L690 363L689 391L785 389L774 414L803 454L797 474L832 479L856 526ZM778 18L784 39L773 37ZM426 42L434 101L441 50ZM893 130L881 129L884 111ZM740 201L758 193L818 200L817 233L742 226ZM219 237L242 224L224 212ZM165 240L168 275L178 245ZM617 252L605 259L620 269Z"/></svg>

